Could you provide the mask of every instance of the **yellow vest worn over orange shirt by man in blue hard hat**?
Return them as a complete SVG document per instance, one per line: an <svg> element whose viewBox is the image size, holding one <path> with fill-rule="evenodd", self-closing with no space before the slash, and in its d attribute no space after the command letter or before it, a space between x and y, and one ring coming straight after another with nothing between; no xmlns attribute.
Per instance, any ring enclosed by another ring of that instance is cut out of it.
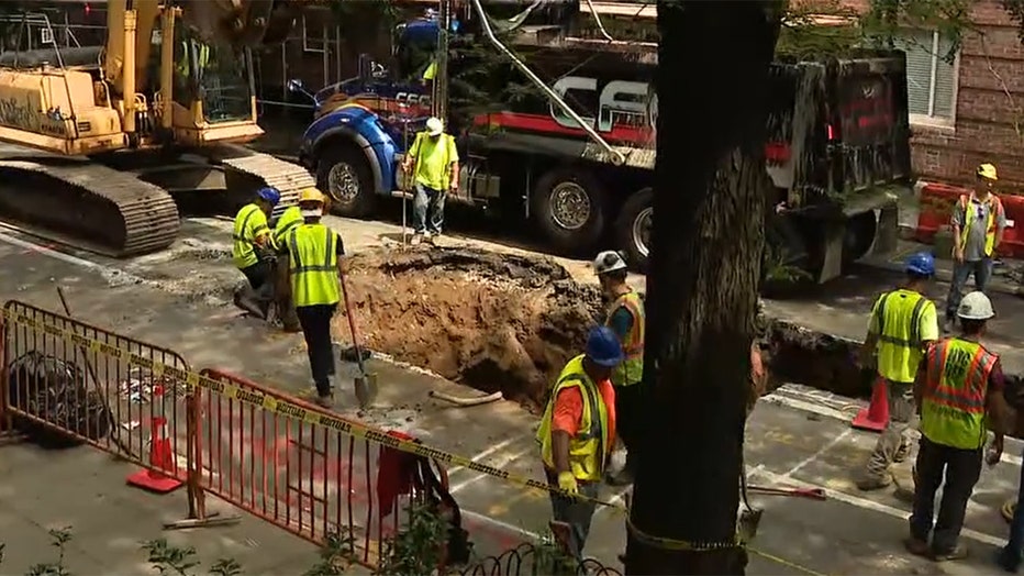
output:
<svg viewBox="0 0 1024 576"><path fill-rule="evenodd" d="M569 468L578 480L598 481L604 473L608 437L608 407L601 398L601 391L583 372L583 355L569 361L555 381L555 388L537 429L537 442L541 444L541 458L549 469L555 469L552 455L552 417L558 394L571 387L578 387L583 396L583 412L579 431L569 440ZM597 414L597 417L594 417Z"/></svg>

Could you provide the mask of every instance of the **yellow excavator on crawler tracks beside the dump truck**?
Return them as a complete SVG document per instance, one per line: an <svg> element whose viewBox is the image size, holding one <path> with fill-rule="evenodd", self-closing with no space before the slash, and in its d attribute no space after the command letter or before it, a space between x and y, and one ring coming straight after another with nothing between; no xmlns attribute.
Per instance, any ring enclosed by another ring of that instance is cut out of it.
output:
<svg viewBox="0 0 1024 576"><path fill-rule="evenodd" d="M130 257L168 247L191 202L234 207L274 186L280 209L293 203L309 173L242 144L264 133L252 49L282 42L305 3L109 0L105 45L69 48L45 16L18 16L49 47L0 53L0 142L20 146L0 152L0 213Z"/></svg>

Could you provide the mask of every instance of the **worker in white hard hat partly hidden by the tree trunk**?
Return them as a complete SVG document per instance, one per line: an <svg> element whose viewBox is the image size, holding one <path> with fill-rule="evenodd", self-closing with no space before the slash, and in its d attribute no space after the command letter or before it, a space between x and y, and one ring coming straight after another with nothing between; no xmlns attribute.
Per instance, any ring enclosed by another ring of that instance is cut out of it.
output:
<svg viewBox="0 0 1024 576"><path fill-rule="evenodd" d="M610 477L611 484L630 484L636 466L635 447L639 414L639 381L644 376L644 300L626 284L626 261L614 251L598 254L593 272L601 283L601 291L611 304L604 325L610 328L625 355L622 364L612 372L615 386L615 414L619 417L619 437L626 447L626 464L622 472Z"/></svg>

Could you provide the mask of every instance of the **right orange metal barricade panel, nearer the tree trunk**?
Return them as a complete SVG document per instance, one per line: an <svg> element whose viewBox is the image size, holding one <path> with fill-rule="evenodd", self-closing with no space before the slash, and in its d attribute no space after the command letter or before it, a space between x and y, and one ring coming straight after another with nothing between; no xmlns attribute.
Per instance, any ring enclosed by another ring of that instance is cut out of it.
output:
<svg viewBox="0 0 1024 576"><path fill-rule="evenodd" d="M350 535L355 560L375 565L409 498L381 497L391 494L378 475L381 444L346 433L337 414L248 378L218 369L200 376L219 385L203 380L197 389L201 488L318 544Z"/></svg>

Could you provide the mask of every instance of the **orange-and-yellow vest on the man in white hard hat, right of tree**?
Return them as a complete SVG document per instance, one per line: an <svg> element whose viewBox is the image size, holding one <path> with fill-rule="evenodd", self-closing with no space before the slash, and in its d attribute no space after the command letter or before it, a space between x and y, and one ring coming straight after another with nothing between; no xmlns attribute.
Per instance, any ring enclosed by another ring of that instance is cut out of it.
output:
<svg viewBox="0 0 1024 576"><path fill-rule="evenodd" d="M921 433L955 448L984 445L984 400L999 356L977 342L948 339L928 350Z"/></svg>

